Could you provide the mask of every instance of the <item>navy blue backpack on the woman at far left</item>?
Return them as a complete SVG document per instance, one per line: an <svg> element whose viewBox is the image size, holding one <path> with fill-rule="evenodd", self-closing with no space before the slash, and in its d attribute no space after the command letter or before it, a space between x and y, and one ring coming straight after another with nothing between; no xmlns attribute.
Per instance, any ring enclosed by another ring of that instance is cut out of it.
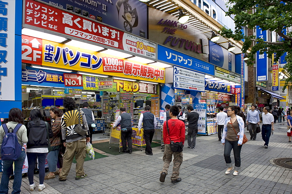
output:
<svg viewBox="0 0 292 194"><path fill-rule="evenodd" d="M2 127L5 132L5 136L1 145L1 160L16 160L21 154L21 146L18 143L18 138L16 132L22 126L18 123L15 128L10 133L6 124L3 124Z"/></svg>

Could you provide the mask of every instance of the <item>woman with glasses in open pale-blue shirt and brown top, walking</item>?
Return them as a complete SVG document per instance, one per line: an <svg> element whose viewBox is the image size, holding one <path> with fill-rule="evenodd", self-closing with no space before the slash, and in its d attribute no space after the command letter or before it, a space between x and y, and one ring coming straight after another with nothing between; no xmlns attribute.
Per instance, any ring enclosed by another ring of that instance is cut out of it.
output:
<svg viewBox="0 0 292 194"><path fill-rule="evenodd" d="M230 118L226 118L224 122L224 130L222 135L221 143L224 145L224 159L227 165L227 170L225 174L229 174L233 169L230 153L233 149L234 155L234 172L233 175L238 175L240 170L241 159L240 152L242 147L242 141L244 136L244 122L243 119L237 115L240 111L239 106L229 106L228 115ZM256 111L258 113L258 111ZM234 132L236 131L236 133ZM239 135L239 139L237 138Z"/></svg>

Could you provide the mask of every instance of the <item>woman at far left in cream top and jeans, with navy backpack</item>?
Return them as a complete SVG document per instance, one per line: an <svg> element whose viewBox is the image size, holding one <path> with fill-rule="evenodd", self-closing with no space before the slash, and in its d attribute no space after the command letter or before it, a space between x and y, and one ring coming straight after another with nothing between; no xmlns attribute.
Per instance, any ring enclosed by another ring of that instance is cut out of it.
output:
<svg viewBox="0 0 292 194"><path fill-rule="evenodd" d="M8 115L8 123L0 126L0 159L3 162L0 193L8 193L9 176L13 162L14 180L12 194L20 193L22 166L25 161L25 148L22 146L23 143L27 143L27 130L21 123L21 110L19 108L11 108ZM14 147L11 147L11 143Z"/></svg>

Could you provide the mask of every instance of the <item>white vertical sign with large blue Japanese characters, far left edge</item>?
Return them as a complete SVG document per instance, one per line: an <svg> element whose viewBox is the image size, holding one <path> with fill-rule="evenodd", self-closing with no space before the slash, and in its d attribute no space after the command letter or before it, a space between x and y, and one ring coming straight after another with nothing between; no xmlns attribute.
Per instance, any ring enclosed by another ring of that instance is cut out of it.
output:
<svg viewBox="0 0 292 194"><path fill-rule="evenodd" d="M21 13L16 1L0 1L0 100L21 101Z"/></svg>

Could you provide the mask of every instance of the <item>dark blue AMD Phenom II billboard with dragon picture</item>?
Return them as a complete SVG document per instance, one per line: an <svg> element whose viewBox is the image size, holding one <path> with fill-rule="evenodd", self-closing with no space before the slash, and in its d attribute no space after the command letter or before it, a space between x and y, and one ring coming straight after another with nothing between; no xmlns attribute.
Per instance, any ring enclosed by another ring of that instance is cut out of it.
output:
<svg viewBox="0 0 292 194"><path fill-rule="evenodd" d="M138 0L40 0L98 22L147 36L147 5Z"/></svg>

